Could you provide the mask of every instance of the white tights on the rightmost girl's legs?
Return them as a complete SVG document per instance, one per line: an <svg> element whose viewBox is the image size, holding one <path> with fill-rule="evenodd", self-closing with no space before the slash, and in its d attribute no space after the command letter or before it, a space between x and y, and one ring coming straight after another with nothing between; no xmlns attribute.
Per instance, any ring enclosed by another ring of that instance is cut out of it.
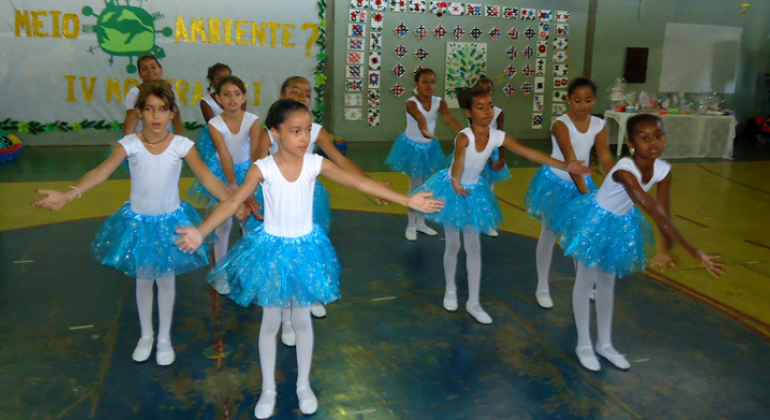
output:
<svg viewBox="0 0 770 420"><path fill-rule="evenodd" d="M591 346L591 305L589 296L596 285L596 325L599 337L596 345L599 348L612 346L612 309L615 301L615 274L605 273L595 268L588 268L583 263L577 263L575 288L572 291L572 310L575 314L577 327L577 348Z"/></svg>

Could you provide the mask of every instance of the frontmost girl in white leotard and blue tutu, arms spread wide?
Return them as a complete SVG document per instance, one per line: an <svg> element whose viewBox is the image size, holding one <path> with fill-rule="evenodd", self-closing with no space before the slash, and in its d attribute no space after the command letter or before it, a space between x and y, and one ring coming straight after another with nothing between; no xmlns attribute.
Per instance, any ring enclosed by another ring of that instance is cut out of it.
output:
<svg viewBox="0 0 770 420"><path fill-rule="evenodd" d="M310 306L339 299L341 267L326 232L313 223L316 177L324 175L423 212L442 207L440 201L430 199L430 193L406 197L342 170L319 155L306 153L313 125L307 107L298 101L282 99L274 103L266 123L280 145L279 150L258 160L233 196L223 201L197 229L180 229L183 237L177 242L185 252L196 252L203 238L230 218L240 203L253 194L257 184L262 183L264 223L242 237L206 277L212 284L229 284L228 296L239 305L253 303L263 307L259 331L262 394L254 410L259 419L270 417L275 407L276 334L281 326L281 308L286 307L292 308L297 331L299 408L303 414L318 409L310 388L314 340Z"/></svg>

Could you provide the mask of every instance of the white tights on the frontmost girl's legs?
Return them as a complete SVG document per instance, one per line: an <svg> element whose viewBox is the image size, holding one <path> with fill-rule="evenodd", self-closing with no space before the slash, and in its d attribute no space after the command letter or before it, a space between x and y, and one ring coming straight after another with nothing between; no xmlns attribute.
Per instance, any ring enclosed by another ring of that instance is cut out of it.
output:
<svg viewBox="0 0 770 420"><path fill-rule="evenodd" d="M313 322L310 308L292 308L292 322L297 331L297 388L310 386L313 361ZM259 364L262 366L262 391L275 391L276 335L281 327L281 308L263 308L259 328Z"/></svg>

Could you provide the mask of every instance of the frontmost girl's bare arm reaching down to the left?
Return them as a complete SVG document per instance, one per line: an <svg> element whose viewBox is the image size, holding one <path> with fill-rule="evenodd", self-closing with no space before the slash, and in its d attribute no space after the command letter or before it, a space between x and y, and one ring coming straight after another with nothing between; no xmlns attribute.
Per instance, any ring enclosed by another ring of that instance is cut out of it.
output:
<svg viewBox="0 0 770 420"><path fill-rule="evenodd" d="M235 190L233 195L226 200L223 200L200 226L197 228L190 227L177 229L176 232L181 234L182 237L179 238L175 244L179 245L179 249L184 252L195 252L195 250L201 246L201 243L203 243L203 238L214 231L217 226L224 223L225 220L232 217L233 214L238 211L241 204L254 194L257 184L262 182L262 180L262 171L259 170L257 165L252 165L251 169L249 169L249 173L246 174L246 179L243 181L243 184Z"/></svg>

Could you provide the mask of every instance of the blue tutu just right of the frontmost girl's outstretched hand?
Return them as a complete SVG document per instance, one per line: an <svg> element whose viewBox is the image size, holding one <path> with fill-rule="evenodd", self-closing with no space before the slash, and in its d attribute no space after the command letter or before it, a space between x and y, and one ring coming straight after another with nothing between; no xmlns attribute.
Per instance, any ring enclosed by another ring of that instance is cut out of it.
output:
<svg viewBox="0 0 770 420"><path fill-rule="evenodd" d="M417 187L412 194L432 191L431 198L444 202L441 211L425 214L425 217L442 224L445 231L460 232L469 228L473 233L485 233L497 229L497 225L503 222L503 211L489 184L479 179L479 182L463 187L471 190L466 197L458 195L452 188L449 170L444 169Z"/></svg>

